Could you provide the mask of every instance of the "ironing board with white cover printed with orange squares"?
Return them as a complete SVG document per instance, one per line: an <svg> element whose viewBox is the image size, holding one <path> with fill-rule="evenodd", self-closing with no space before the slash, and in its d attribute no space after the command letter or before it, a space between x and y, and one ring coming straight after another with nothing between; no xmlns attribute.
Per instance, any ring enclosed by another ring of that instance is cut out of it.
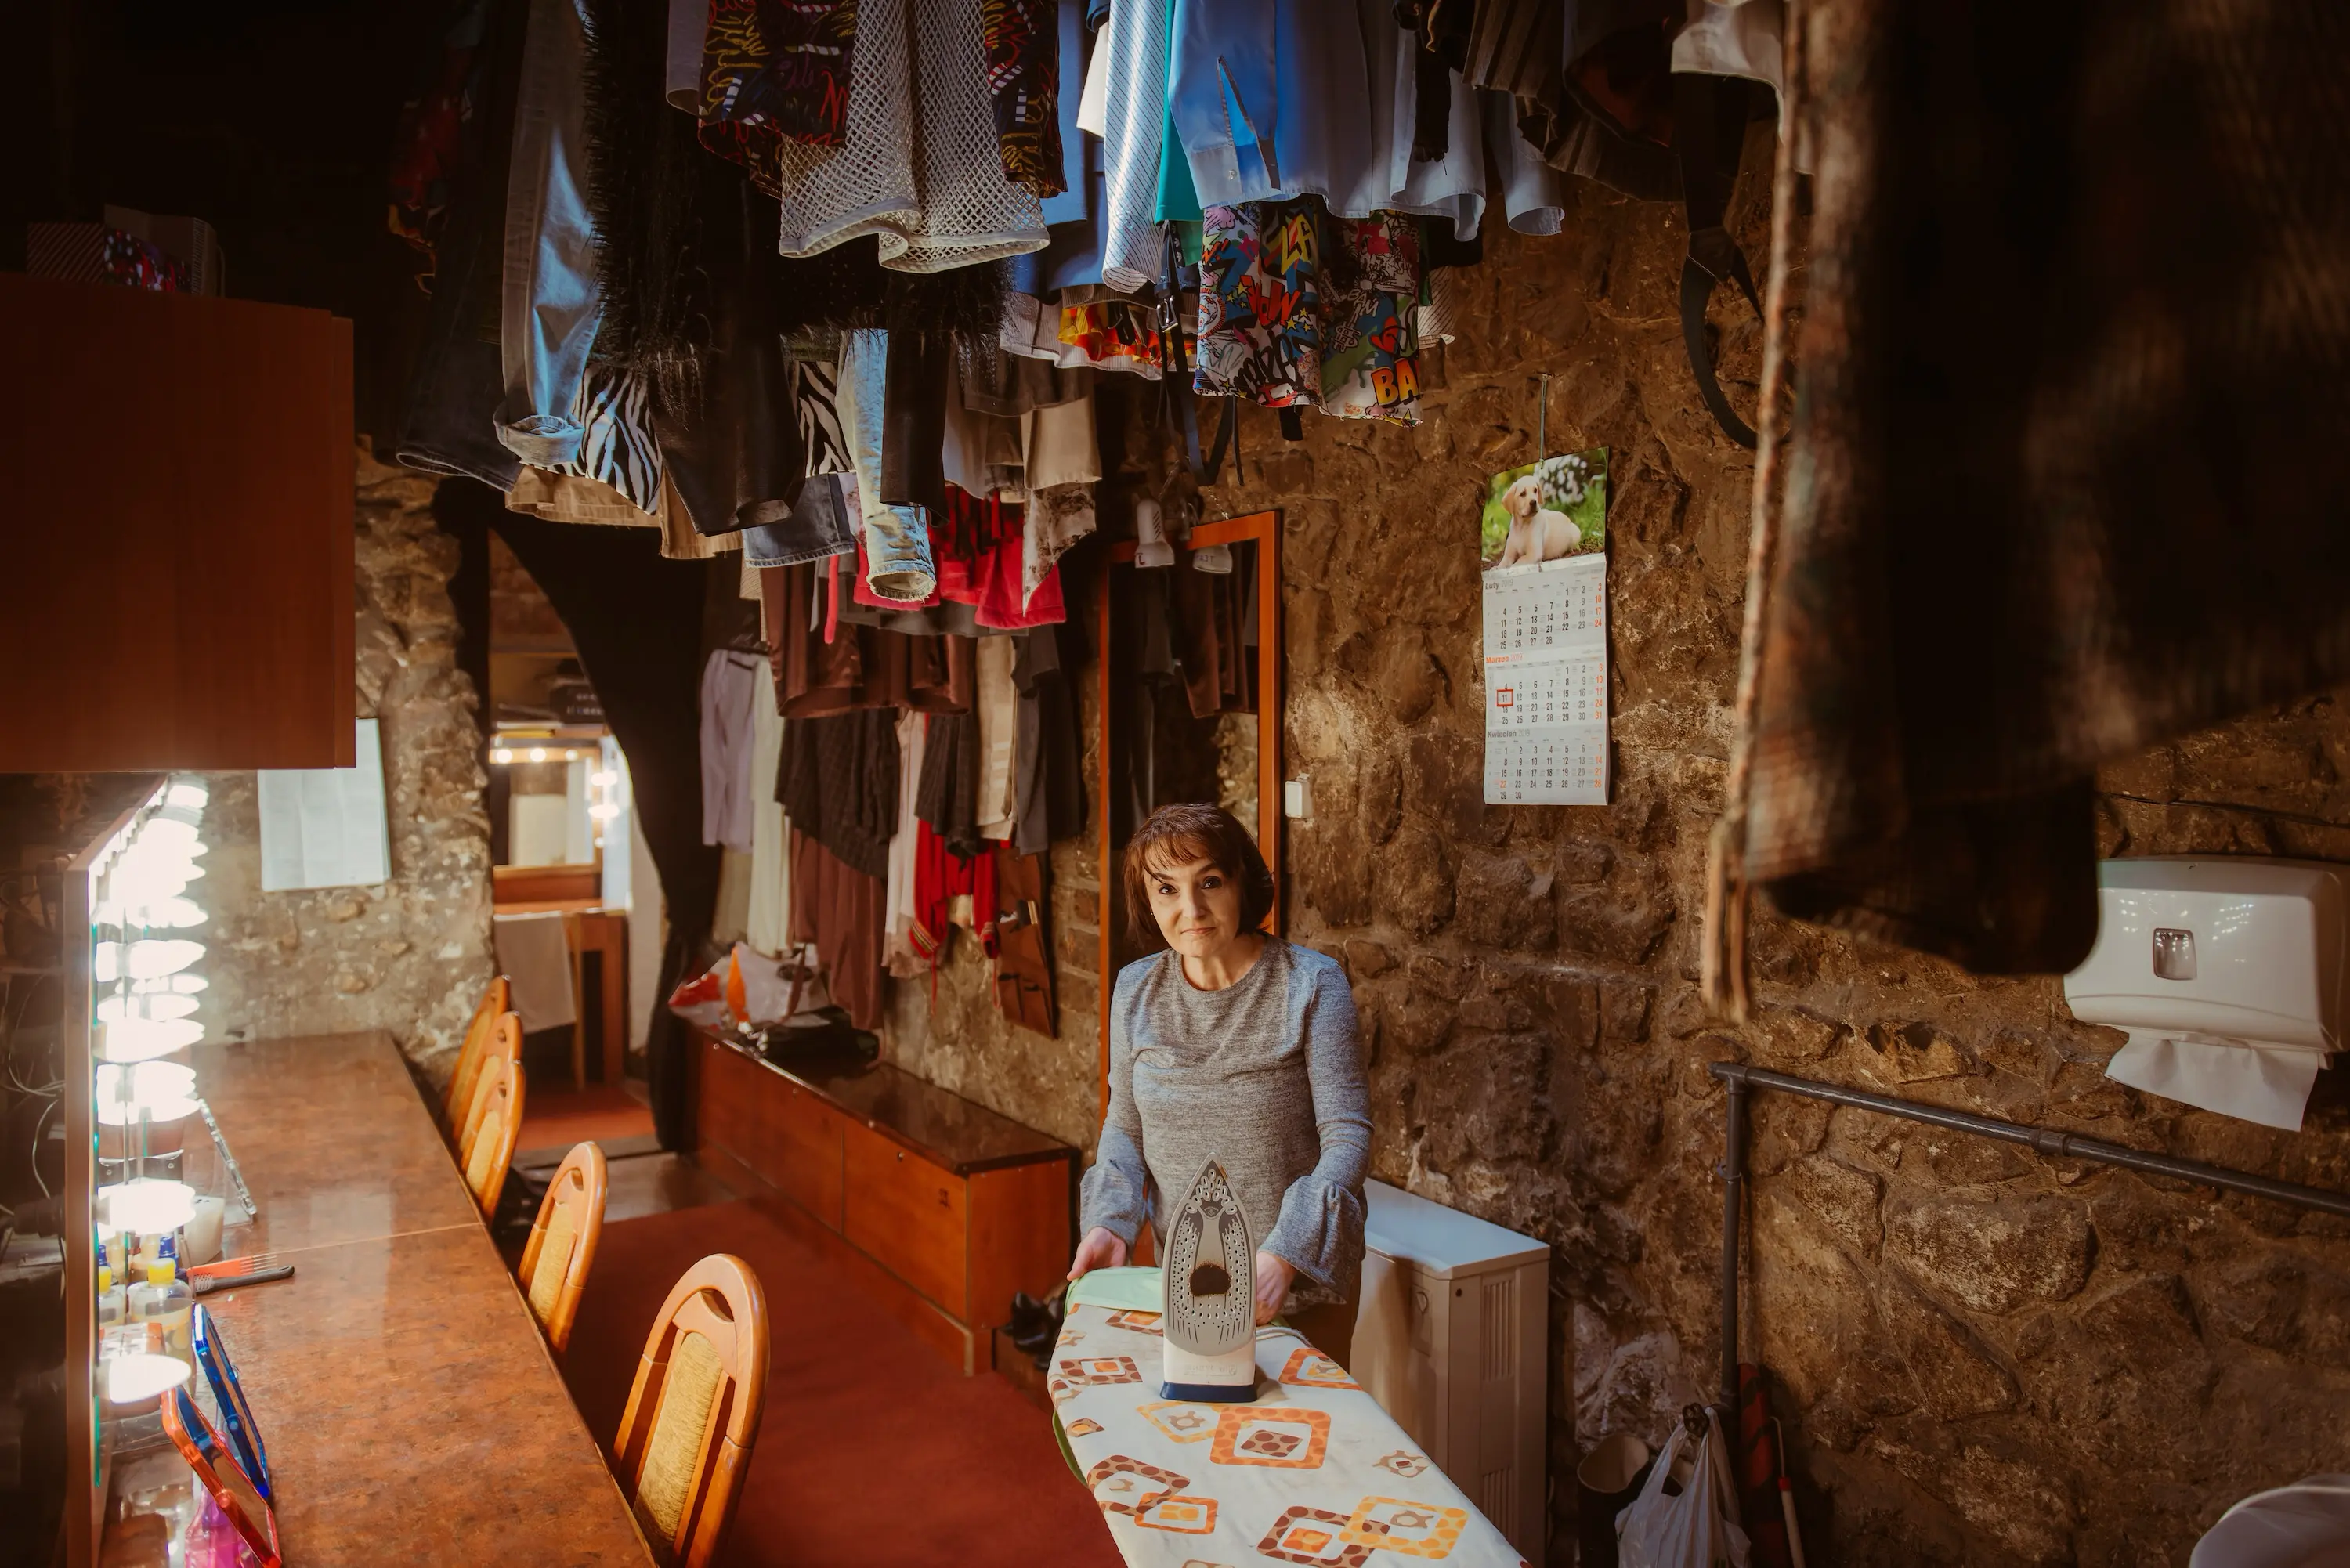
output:
<svg viewBox="0 0 2350 1568"><path fill-rule="evenodd" d="M1330 1356L1257 1331L1257 1401L1159 1399L1159 1269L1069 1286L1053 1418L1133 1568L1525 1568L1525 1559Z"/></svg>

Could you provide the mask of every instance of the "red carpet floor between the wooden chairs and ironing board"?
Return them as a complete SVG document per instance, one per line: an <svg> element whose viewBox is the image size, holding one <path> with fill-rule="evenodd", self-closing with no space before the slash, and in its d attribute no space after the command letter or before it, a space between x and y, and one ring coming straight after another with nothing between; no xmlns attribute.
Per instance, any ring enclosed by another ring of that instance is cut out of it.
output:
<svg viewBox="0 0 2350 1568"><path fill-rule="evenodd" d="M564 1378L606 1458L670 1286L736 1253L766 1291L771 1359L721 1568L1116 1568L1046 1413L947 1366L761 1215L771 1201L604 1225Z"/></svg>

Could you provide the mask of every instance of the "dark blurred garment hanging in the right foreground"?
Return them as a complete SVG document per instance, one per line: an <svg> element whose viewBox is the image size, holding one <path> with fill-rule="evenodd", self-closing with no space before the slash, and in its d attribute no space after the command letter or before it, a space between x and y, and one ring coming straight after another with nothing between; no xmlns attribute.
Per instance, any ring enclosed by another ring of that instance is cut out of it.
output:
<svg viewBox="0 0 2350 1568"><path fill-rule="evenodd" d="M1800 919L2063 973L2096 938L2096 766L2350 677L2350 487L2312 461L2350 428L2350 313L2284 303L2341 299L2345 33L2059 5L2014 49L1976 21L1810 28L1746 875Z"/></svg>

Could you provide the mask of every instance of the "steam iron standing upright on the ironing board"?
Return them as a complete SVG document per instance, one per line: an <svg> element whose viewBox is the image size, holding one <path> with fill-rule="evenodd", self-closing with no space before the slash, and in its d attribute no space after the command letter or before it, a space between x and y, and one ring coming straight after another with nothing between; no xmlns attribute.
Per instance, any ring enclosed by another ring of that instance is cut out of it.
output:
<svg viewBox="0 0 2350 1568"><path fill-rule="evenodd" d="M1255 1403L1257 1244L1224 1166L1210 1159L1168 1225L1161 1399Z"/></svg>

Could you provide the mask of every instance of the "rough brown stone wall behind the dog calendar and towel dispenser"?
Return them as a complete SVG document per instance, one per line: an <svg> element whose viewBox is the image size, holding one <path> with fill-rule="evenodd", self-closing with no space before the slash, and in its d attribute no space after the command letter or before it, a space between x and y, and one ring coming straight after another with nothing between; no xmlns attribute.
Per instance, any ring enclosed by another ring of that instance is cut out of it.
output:
<svg viewBox="0 0 2350 1568"><path fill-rule="evenodd" d="M1765 200L1748 176L1732 207L1758 263ZM1248 482L1208 515L1285 515L1288 773L1316 806L1290 837L1290 936L1354 980L1375 1173L1553 1246L1563 1563L1579 1453L1659 1439L1718 1382L1708 1060L2331 1187L2350 1095L2322 1084L2301 1135L2188 1112L2108 1081L2120 1037L2073 1023L2056 980L1770 919L1755 1023L1708 1027L1697 922L1751 454L1690 378L1678 214L1577 181L1563 235L1490 223L1485 247L1417 430L1307 416L1285 447L1253 414ZM1751 407L1751 315L1716 320ZM1544 371L1549 449L1612 449L1605 809L1483 804L1476 508L1488 473L1535 456ZM2334 698L2103 783L2108 853L2350 858L2350 832L2296 820L2350 823ZM1760 1095L1753 1128L1744 1345L1777 1380L1814 1563L2178 1563L2235 1497L2341 1467L2341 1222L1805 1100Z"/></svg>

